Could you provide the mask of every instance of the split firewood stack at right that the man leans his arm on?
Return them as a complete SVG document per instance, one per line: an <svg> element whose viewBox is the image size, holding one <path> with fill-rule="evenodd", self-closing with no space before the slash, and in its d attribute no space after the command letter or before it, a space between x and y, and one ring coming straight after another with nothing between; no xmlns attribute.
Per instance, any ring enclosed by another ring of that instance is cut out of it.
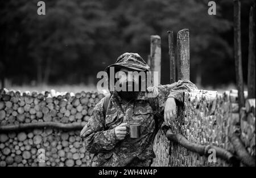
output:
<svg viewBox="0 0 256 178"><path fill-rule="evenodd" d="M179 106L178 118L170 130L174 134L183 135L191 143L217 146L234 153L229 134L241 132L237 102L236 90L223 94L205 90L185 92L184 105ZM253 134L249 134L253 137ZM156 158L152 166L232 166L219 158L215 163L209 162L206 156L200 156L177 143L168 141L162 131L156 135L154 150Z"/></svg>

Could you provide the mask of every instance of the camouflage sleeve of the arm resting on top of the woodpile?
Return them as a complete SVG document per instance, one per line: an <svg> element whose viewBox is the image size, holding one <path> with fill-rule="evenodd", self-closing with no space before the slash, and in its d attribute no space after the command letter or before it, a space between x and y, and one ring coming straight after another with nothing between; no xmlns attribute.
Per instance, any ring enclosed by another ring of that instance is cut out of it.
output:
<svg viewBox="0 0 256 178"><path fill-rule="evenodd" d="M184 92L197 89L196 85L189 80L179 80L172 84L159 85L154 87L154 90L158 90L158 95L154 98L158 114L162 114L167 98L174 98L176 104L182 104L184 102Z"/></svg>

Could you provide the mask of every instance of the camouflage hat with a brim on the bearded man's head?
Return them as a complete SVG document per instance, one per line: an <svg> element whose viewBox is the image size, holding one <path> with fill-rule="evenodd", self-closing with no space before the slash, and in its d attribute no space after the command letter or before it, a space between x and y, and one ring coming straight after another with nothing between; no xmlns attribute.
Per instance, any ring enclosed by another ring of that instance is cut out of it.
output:
<svg viewBox="0 0 256 178"><path fill-rule="evenodd" d="M137 53L124 53L117 58L117 61L106 67L105 71L109 74L109 67L126 67L138 71L150 71L150 66Z"/></svg>

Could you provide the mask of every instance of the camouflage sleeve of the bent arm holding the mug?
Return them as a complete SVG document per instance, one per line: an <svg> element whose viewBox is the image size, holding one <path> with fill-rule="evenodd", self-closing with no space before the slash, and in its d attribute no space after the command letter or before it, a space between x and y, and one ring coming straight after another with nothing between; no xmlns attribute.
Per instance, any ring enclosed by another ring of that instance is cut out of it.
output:
<svg viewBox="0 0 256 178"><path fill-rule="evenodd" d="M118 142L114 129L105 130L104 99L96 104L92 116L80 133L84 147L90 153L108 152Z"/></svg>

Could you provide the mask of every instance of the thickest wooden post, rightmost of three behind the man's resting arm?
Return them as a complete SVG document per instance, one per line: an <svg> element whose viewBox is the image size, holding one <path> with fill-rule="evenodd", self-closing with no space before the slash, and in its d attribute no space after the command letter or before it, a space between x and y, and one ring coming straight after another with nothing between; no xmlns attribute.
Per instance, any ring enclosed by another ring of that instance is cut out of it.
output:
<svg viewBox="0 0 256 178"><path fill-rule="evenodd" d="M177 79L189 80L189 30L177 33Z"/></svg>

